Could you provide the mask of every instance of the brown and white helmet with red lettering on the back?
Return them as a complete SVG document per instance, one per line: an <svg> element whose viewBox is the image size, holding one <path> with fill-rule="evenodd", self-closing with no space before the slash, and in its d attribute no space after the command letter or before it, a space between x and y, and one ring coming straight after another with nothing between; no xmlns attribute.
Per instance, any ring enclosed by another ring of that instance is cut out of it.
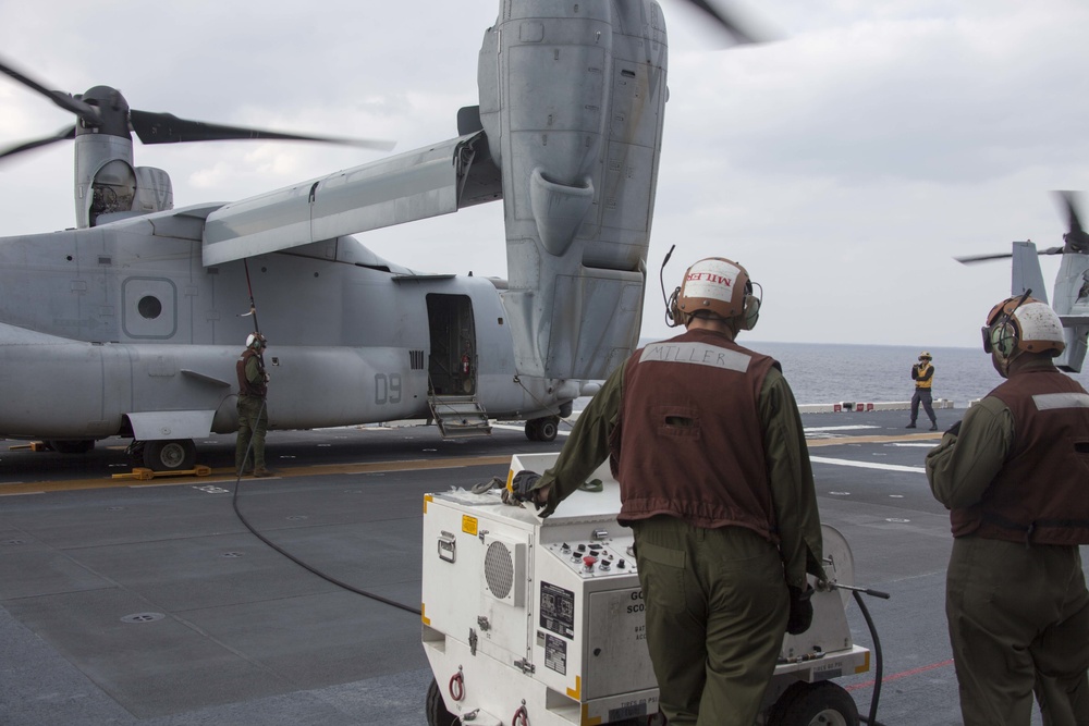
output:
<svg viewBox="0 0 1089 726"><path fill-rule="evenodd" d="M752 294L745 268L724 257L708 257L688 268L674 292L670 316L684 324L700 310L725 320L739 319L741 330L752 330L760 317L760 298Z"/></svg>

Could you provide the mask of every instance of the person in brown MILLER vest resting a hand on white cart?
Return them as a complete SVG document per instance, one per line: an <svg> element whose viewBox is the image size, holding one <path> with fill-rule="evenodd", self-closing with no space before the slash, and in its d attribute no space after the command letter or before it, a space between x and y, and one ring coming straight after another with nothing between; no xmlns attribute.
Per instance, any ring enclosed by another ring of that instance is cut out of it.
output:
<svg viewBox="0 0 1089 726"><path fill-rule="evenodd" d="M610 458L632 527L647 647L671 726L751 726L784 631L812 619L823 579L812 471L779 364L737 345L760 310L723 258L685 272L669 319L687 331L617 368L543 476L514 499L548 516Z"/></svg>

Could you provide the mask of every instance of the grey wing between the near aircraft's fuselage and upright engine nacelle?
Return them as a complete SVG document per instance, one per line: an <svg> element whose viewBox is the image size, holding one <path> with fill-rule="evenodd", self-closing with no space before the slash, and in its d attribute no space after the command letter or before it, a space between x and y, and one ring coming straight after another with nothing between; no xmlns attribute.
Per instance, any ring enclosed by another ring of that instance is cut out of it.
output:
<svg viewBox="0 0 1089 726"><path fill-rule="evenodd" d="M204 264L449 214L502 197L484 132L224 205L208 216Z"/></svg>

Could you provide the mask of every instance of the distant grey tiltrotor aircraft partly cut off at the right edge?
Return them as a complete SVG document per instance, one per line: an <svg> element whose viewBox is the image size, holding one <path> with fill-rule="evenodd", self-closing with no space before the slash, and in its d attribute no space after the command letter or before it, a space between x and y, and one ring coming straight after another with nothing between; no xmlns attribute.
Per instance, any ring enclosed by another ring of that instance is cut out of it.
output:
<svg viewBox="0 0 1089 726"><path fill-rule="evenodd" d="M1040 269L1041 255L1061 255L1059 273L1051 307L1063 322L1066 349L1055 359L1061 370L1080 372L1086 358L1089 339L1089 233L1081 227L1075 195L1072 192L1056 192L1066 212L1069 231L1063 234L1063 245L1037 250L1032 242L1015 242L1013 250L1004 254L971 255L954 258L964 264L987 260L1012 258L1012 295L1031 292L1032 297L1048 302L1048 288L1043 284Z"/></svg>

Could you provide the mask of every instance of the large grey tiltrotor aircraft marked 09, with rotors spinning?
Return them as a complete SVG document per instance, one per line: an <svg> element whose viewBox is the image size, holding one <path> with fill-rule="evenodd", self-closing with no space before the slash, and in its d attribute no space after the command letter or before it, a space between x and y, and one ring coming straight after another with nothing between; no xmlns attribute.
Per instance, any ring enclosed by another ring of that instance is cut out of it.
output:
<svg viewBox="0 0 1089 726"><path fill-rule="evenodd" d="M703 0L741 40L742 32ZM558 417L637 342L666 99L652 0L501 0L457 136L229 204L173 209L149 143L320 137L130 110L8 75L77 116L77 229L0 239L0 435L82 452L130 436L155 470L237 427L257 300L271 429L412 418L444 435ZM503 200L509 279L419 272L348 236Z"/></svg>

